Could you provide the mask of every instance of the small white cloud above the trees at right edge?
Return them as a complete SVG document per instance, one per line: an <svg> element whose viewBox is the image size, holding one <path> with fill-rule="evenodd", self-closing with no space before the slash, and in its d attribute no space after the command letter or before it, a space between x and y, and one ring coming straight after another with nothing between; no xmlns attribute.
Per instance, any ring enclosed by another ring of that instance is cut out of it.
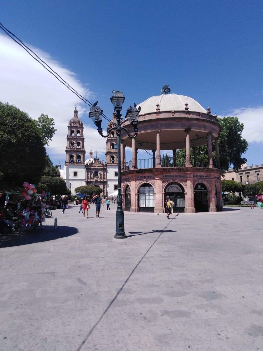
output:
<svg viewBox="0 0 263 351"><path fill-rule="evenodd" d="M249 143L263 141L263 106L236 108L228 111L225 116L238 117L240 122L244 123L242 136Z"/></svg>

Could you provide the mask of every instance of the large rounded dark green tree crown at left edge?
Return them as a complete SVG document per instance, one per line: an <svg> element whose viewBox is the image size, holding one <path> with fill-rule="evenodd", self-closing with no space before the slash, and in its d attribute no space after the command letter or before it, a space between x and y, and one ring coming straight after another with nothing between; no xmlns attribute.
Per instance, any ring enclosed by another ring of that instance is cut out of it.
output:
<svg viewBox="0 0 263 351"><path fill-rule="evenodd" d="M46 149L38 122L14 105L0 102L0 191L38 183Z"/></svg>

